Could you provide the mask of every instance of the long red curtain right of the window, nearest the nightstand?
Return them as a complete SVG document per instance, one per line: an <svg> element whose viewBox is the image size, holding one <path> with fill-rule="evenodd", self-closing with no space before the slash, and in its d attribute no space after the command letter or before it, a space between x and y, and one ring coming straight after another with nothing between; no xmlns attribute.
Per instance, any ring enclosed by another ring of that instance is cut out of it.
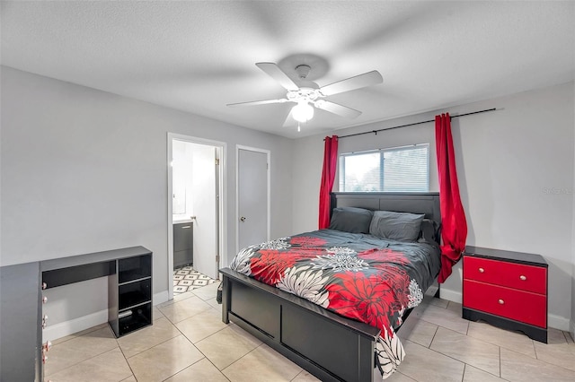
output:
<svg viewBox="0 0 575 382"><path fill-rule="evenodd" d="M451 267L465 249L467 222L457 183L456 156L451 136L449 113L435 117L435 144L438 154L439 203L441 209L441 271L438 282L445 282Z"/></svg>

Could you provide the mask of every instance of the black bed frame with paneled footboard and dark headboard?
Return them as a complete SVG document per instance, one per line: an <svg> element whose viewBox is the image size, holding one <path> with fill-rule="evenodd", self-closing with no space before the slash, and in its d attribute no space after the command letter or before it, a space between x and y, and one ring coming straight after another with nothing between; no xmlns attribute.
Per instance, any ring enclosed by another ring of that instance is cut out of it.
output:
<svg viewBox="0 0 575 382"><path fill-rule="evenodd" d="M336 206L425 213L427 218L441 221L438 193L333 193L332 208ZM229 268L219 272L226 324L231 319L322 381L374 380L379 329Z"/></svg>

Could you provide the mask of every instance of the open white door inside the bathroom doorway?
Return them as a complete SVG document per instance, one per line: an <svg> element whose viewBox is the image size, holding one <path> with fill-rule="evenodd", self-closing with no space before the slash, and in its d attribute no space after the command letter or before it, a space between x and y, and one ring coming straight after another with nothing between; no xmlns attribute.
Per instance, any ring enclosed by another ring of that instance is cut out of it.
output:
<svg viewBox="0 0 575 382"><path fill-rule="evenodd" d="M192 146L191 203L195 216L193 266L217 279L217 147L188 144Z"/></svg>

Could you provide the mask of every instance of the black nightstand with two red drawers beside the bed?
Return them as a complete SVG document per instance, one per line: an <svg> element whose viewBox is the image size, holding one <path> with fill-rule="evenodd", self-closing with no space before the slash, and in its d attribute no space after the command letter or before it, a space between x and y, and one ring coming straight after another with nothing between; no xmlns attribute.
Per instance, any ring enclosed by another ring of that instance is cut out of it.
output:
<svg viewBox="0 0 575 382"><path fill-rule="evenodd" d="M465 247L463 317L519 330L547 343L547 263L543 256Z"/></svg>

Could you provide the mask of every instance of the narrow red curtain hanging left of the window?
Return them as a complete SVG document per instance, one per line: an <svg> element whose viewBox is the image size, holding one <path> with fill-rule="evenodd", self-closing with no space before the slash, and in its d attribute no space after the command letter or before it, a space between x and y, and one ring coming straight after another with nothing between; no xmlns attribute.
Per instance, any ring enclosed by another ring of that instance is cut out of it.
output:
<svg viewBox="0 0 575 382"><path fill-rule="evenodd" d="M330 226L330 194L332 193L335 169L338 164L338 136L325 137L323 151L322 184L320 185L320 218L319 229L323 230Z"/></svg>

